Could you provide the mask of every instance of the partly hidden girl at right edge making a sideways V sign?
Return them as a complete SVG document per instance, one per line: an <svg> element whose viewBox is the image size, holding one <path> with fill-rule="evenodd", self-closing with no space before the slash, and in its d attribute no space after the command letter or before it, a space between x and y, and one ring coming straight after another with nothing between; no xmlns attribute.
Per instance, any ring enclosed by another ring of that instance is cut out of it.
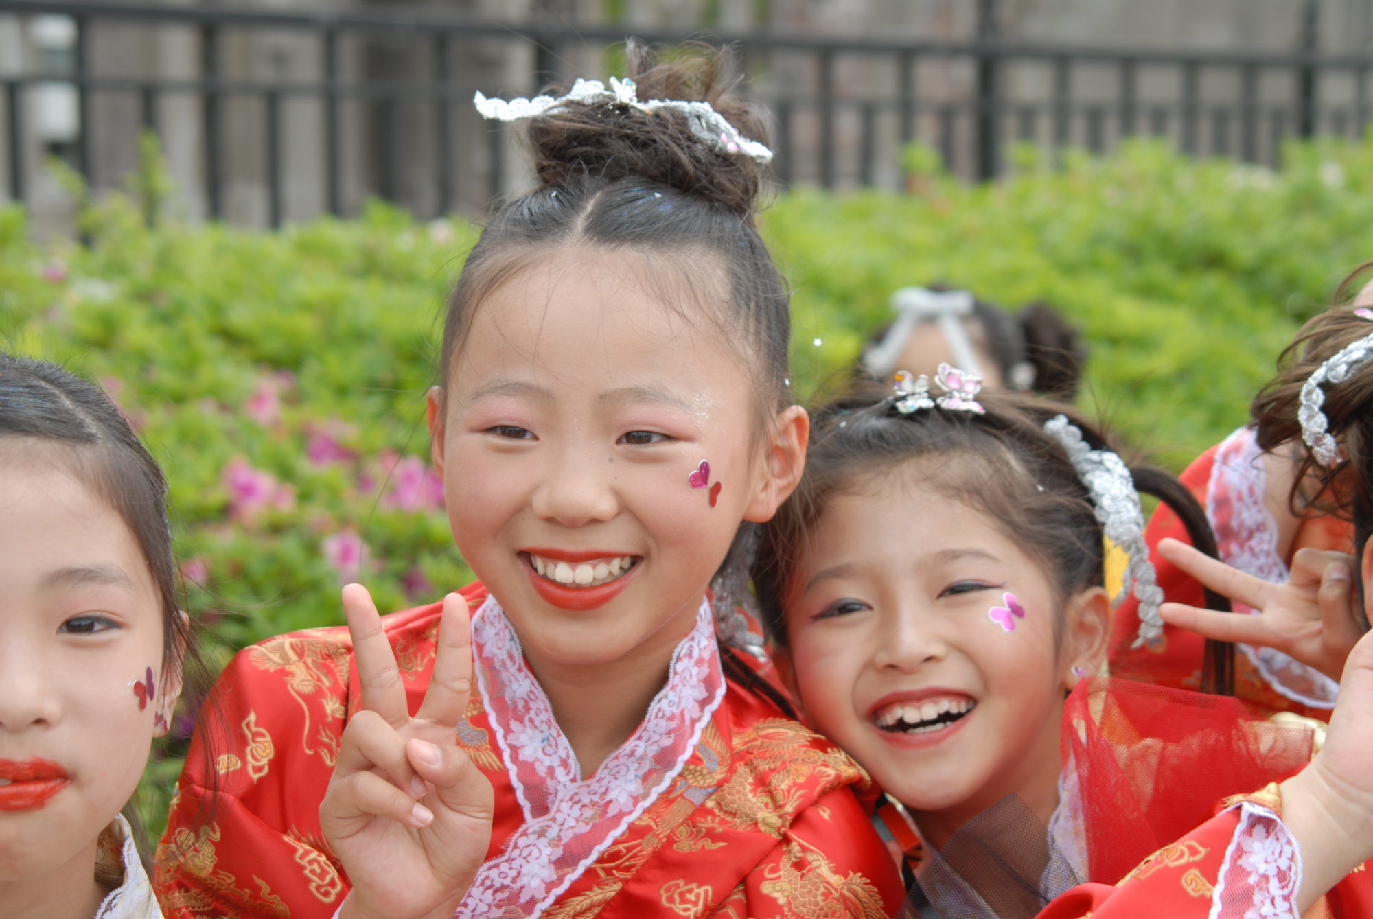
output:
<svg viewBox="0 0 1373 919"><path fill-rule="evenodd" d="M1303 326L1284 351L1281 373L1251 406L1251 422L1201 454L1181 476L1205 508L1219 558L1233 571L1188 551L1186 532L1167 508L1159 508L1149 520L1148 542L1159 587L1168 601L1184 606L1166 605L1162 632L1145 643L1135 641L1135 606L1127 601L1112 641L1114 673L1197 689L1214 687L1208 676L1233 668L1233 691L1255 712L1329 719L1339 668L1358 636L1352 630L1351 610L1357 612L1358 601L1348 558L1354 531L1347 517L1329 513L1332 495L1319 476L1308 475L1299 395L1324 361L1366 333L1355 311L1373 306L1373 284L1348 302L1346 291L1368 267L1354 270L1335 296L1337 306ZM1336 627L1325 632L1326 641L1336 645L1333 654L1318 646L1292 646L1281 628L1271 628L1281 612L1225 620L1189 612L1204 606L1204 586L1230 597L1236 613L1269 612L1265 608L1273 604L1273 587L1266 584L1284 583L1326 610L1326 620ZM1196 628L1204 634L1189 631ZM1215 667L1221 650L1233 657L1233 665Z"/></svg>

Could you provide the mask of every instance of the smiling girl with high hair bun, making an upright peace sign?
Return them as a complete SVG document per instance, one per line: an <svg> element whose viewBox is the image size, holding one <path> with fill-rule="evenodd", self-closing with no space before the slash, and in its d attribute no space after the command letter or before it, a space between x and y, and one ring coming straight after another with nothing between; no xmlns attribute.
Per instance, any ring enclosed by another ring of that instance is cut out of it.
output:
<svg viewBox="0 0 1373 919"><path fill-rule="evenodd" d="M218 791L187 768L170 815L170 915L901 903L853 793L865 774L783 715L728 599L809 432L754 228L768 151L711 66L630 56L637 86L478 99L530 117L542 182L468 255L428 398L481 583L380 619L349 587L350 631L235 657Z"/></svg>

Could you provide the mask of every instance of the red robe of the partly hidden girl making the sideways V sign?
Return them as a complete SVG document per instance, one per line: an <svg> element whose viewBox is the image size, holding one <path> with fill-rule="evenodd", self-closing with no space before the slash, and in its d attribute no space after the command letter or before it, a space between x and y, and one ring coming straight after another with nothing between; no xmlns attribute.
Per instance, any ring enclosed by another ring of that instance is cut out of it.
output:
<svg viewBox="0 0 1373 919"><path fill-rule="evenodd" d="M1313 517L1302 523L1285 557L1273 550L1276 524L1263 506L1263 470L1255 462L1258 446L1254 432L1240 428L1222 443L1211 447L1179 476L1207 510L1215 531L1221 558L1265 580L1285 580L1287 565L1297 549L1335 549L1351 551L1352 527L1330 517ZM1162 558L1155 547L1164 536L1185 543L1182 521L1167 505L1159 505L1145 539L1164 598L1192 606L1204 605L1201 584ZM1111 673L1123 679L1196 690L1201 682L1205 639L1164 624L1163 639L1151 647L1131 647L1140 627L1138 604L1127 597L1116 610ZM1236 605L1237 613L1249 612ZM1285 663L1285 656L1271 649L1236 649L1236 697L1259 715L1295 712L1321 720L1330 719L1333 683L1300 664ZM1295 665L1293 665L1295 664Z"/></svg>

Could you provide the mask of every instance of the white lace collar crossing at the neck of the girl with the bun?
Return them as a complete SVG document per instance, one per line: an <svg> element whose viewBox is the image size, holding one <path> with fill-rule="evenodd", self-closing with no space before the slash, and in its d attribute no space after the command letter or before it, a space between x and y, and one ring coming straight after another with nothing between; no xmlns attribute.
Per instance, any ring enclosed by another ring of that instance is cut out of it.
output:
<svg viewBox="0 0 1373 919"><path fill-rule="evenodd" d="M725 697L710 602L643 723L582 779L494 597L472 617L476 684L524 823L476 872L456 916L538 916L671 785Z"/></svg>

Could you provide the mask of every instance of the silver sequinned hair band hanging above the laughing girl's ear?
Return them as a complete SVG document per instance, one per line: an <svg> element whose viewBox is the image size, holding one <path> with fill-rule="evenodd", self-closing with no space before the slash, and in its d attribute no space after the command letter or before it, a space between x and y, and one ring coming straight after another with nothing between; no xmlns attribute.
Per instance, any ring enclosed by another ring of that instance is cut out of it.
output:
<svg viewBox="0 0 1373 919"><path fill-rule="evenodd" d="M1093 450L1082 439L1082 431L1065 416L1054 416L1045 422L1043 429L1063 444L1078 477L1087 487L1103 535L1129 560L1120 593L1111 599L1124 599L1126 591L1134 586L1135 599L1140 601L1140 634L1133 647L1153 643L1163 635L1163 619L1159 616L1163 590L1149 561L1149 546L1144 540L1144 509L1140 508L1140 492L1135 491L1129 466L1109 450Z"/></svg>

